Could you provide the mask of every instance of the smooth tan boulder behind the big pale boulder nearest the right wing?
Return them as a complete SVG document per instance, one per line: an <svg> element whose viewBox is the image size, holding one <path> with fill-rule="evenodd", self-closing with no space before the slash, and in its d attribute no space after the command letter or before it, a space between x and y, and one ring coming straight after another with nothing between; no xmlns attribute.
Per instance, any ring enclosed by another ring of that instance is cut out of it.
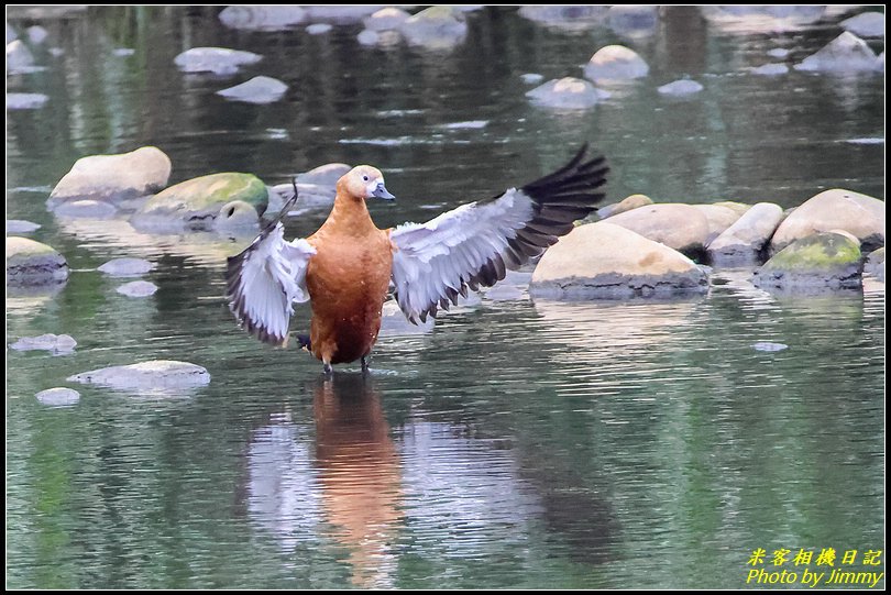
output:
<svg viewBox="0 0 891 595"><path fill-rule="evenodd" d="M609 223L688 256L697 256L705 251L710 233L705 214L691 205L679 202L640 207L610 217Z"/></svg>

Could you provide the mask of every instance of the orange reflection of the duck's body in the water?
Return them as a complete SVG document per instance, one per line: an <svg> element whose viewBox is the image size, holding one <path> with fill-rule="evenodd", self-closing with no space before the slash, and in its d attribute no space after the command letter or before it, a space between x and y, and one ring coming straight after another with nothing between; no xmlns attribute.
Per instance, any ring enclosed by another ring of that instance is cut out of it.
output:
<svg viewBox="0 0 891 595"><path fill-rule="evenodd" d="M318 382L315 411L324 518L350 551L353 583L392 587L402 469L381 397L367 374L339 374Z"/></svg>

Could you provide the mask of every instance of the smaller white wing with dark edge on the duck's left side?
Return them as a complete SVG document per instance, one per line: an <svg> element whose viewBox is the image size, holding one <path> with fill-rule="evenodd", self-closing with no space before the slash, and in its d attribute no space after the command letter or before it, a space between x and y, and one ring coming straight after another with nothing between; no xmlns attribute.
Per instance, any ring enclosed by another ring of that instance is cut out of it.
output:
<svg viewBox="0 0 891 595"><path fill-rule="evenodd" d="M226 269L229 309L263 342L284 345L295 301L307 301L306 268L316 253L306 240L286 242L280 222L266 228Z"/></svg>

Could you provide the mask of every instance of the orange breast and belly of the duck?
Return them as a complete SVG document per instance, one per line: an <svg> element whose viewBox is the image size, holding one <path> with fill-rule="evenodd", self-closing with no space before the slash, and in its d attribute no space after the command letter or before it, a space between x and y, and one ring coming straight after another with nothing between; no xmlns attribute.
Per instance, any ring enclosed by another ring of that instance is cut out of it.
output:
<svg viewBox="0 0 891 595"><path fill-rule="evenodd" d="M367 355L381 330L381 310L393 268L387 232L362 234L322 228L310 238L316 255L306 284L312 307L312 354L330 364Z"/></svg>

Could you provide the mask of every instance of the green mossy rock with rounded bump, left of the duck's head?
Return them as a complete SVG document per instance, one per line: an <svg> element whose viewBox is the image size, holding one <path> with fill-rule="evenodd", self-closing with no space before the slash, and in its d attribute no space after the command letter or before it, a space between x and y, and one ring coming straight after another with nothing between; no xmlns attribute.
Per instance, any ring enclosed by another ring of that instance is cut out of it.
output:
<svg viewBox="0 0 891 595"><path fill-rule="evenodd" d="M231 227L228 219L243 227L251 209L252 222L257 224L267 205L266 186L253 174L211 174L156 194L130 222L145 231L212 231L220 225Z"/></svg>

